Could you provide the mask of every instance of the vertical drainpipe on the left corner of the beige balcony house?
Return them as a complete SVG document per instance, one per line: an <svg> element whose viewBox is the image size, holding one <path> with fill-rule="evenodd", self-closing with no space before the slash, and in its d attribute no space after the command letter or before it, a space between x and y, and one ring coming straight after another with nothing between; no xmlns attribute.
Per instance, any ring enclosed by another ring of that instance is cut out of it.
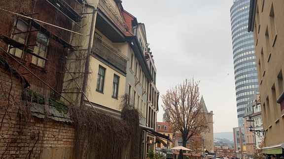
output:
<svg viewBox="0 0 284 159"><path fill-rule="evenodd" d="M91 55L91 49L92 49L92 44L93 44L93 39L94 39L94 21L95 18L97 17L96 11L97 9L95 8L95 6L92 6L90 4L88 4L86 1L83 1L87 7L91 7L93 8L93 14L92 14L92 22L91 22L91 29L90 29L90 38L89 38L89 46L88 46L88 53L86 56L86 64L85 64L85 71L88 71L90 68L90 55ZM80 100L80 106L83 106L84 103L84 97L85 97L85 92L87 89L87 80L88 80L88 76L89 74L85 74L84 78L83 78L83 93L81 94L81 100Z"/></svg>

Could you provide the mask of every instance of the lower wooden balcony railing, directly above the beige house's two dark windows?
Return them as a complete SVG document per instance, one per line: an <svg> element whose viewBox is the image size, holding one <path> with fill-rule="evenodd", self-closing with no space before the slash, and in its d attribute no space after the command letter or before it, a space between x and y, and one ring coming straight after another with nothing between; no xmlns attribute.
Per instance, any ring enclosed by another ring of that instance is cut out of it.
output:
<svg viewBox="0 0 284 159"><path fill-rule="evenodd" d="M95 34L92 52L126 73L128 58L98 34Z"/></svg>

